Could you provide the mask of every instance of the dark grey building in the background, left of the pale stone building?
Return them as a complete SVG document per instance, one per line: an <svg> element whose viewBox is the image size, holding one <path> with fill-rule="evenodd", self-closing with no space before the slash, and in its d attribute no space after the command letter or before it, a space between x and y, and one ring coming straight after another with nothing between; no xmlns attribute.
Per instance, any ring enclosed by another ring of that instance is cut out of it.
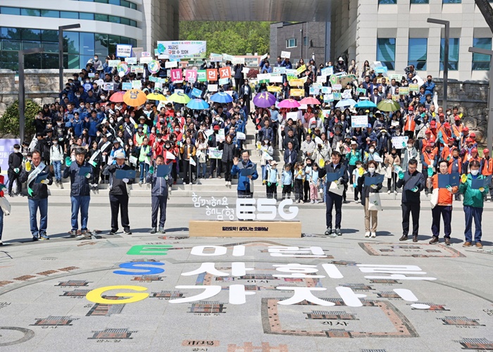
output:
<svg viewBox="0 0 493 352"><path fill-rule="evenodd" d="M317 64L325 63L330 48L330 22L278 22L270 25L270 61L281 51L291 52L291 61L296 63L303 58L306 63L311 58Z"/></svg>

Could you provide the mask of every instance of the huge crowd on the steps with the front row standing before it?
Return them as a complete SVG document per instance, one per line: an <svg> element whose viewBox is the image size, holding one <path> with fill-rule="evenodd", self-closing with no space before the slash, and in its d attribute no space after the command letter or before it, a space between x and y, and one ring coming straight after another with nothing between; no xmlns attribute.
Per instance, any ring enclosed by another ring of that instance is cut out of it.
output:
<svg viewBox="0 0 493 352"><path fill-rule="evenodd" d="M470 227L475 220L475 244L480 246L481 210L488 195L493 201L493 187L489 183L476 189L472 184L483 178L491 182L491 177L486 177L493 174L493 161L487 149L480 155L475 133L463 124L458 107L443 111L442 107L435 106L432 101L435 83L431 76L418 92L406 89L406 94L399 94L401 87L418 82L412 66L406 68L401 80L388 80L382 73L375 73L368 61L359 70L354 61L348 67L342 58L335 65L328 62L319 66L313 59L308 64L300 60L293 65L289 58L280 57L271 66L266 58L261 62L259 73L272 73L275 67L302 68L296 79L304 81L304 96L313 95L318 99L318 103L308 106L279 108L279 101L292 98L291 92L295 89L289 84L292 77L282 74L283 82L258 83L254 77L245 77L244 65L232 65L230 61L221 65L204 60L199 69L218 70L221 66L231 66L230 80L222 84L220 90L229 93L232 102L211 102L208 109L193 110L172 101L148 100L136 107L111 101L111 96L123 89L123 83L135 80L142 82L145 94L162 92L169 98L174 92L183 92L193 97L193 89L199 89L198 97L203 99L213 94L208 92L207 82L167 80L162 87L156 87L151 77L169 78L164 62L157 73L151 73L144 64L144 73L127 73L121 77L116 68L108 66L111 59L108 57L101 63L95 56L85 69L69 79L58 101L44 105L39 111L32 141L16 145L9 157L8 195L22 195L21 184L27 184L34 240L49 238L46 235L46 185L54 182L63 187L62 179L67 177L71 182L72 236L77 236L79 230L80 238L90 235L87 230L90 193L102 183L109 184L110 188L111 234L118 231L119 211L123 230L130 234L127 187L134 182L134 177L128 175L135 175L139 184L151 184L153 233L165 232L166 200L170 186L180 178L192 184L197 178L224 177L225 185L231 186L232 178L237 177L238 196L251 197L251 182L261 177L268 198L277 199L280 187L282 199L325 202L325 234L335 235L341 234L342 204L347 203L349 187L354 190L354 201L364 207L366 237L375 237L377 232L375 203L379 201L375 194L383 188L389 194L397 194L402 188L401 240L408 237L410 215L413 216L413 241L417 240L420 192L424 190L437 196L432 242L438 241L442 216L445 241L449 244L452 201L462 195L466 244L472 242ZM96 62L101 67L96 68ZM336 89L328 77L318 79L327 73L325 68L330 68L328 72L339 78L353 79L344 89ZM113 83L113 89L105 91L99 79ZM355 108L354 104L338 107L342 99L327 101L326 94L310 94L314 83L320 81L323 87L331 87L332 92L349 91L347 94L357 102L370 101L376 105L390 99L399 108L380 111ZM252 108L255 94L263 92L272 92L275 102L267 108ZM355 116L368 118L365 127L352 127L351 120ZM240 137L246 133L248 123L256 127L256 150L247 150L244 137ZM399 141L406 142L395 145L394 137L405 137ZM276 149L282 153L280 170L274 156ZM261 157L260 174L250 160L251 153ZM418 163L421 172L417 170ZM166 178L156 176L158 165L172 165ZM127 176L120 177L123 173L119 170L133 174L125 173ZM437 175L456 173L462 175L460 186L438 186ZM376 180L376 175L385 176L386 187L380 179L374 184L365 182L367 178ZM334 208L335 224L332 223ZM39 227L37 210L41 217ZM161 210L159 221L158 210Z"/></svg>

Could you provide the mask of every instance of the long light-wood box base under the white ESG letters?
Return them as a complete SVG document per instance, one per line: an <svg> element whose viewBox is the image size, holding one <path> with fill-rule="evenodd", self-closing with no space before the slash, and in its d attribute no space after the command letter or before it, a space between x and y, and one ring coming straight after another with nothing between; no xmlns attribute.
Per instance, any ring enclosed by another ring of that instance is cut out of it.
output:
<svg viewBox="0 0 493 352"><path fill-rule="evenodd" d="M189 236L301 238L301 222L190 220Z"/></svg>

